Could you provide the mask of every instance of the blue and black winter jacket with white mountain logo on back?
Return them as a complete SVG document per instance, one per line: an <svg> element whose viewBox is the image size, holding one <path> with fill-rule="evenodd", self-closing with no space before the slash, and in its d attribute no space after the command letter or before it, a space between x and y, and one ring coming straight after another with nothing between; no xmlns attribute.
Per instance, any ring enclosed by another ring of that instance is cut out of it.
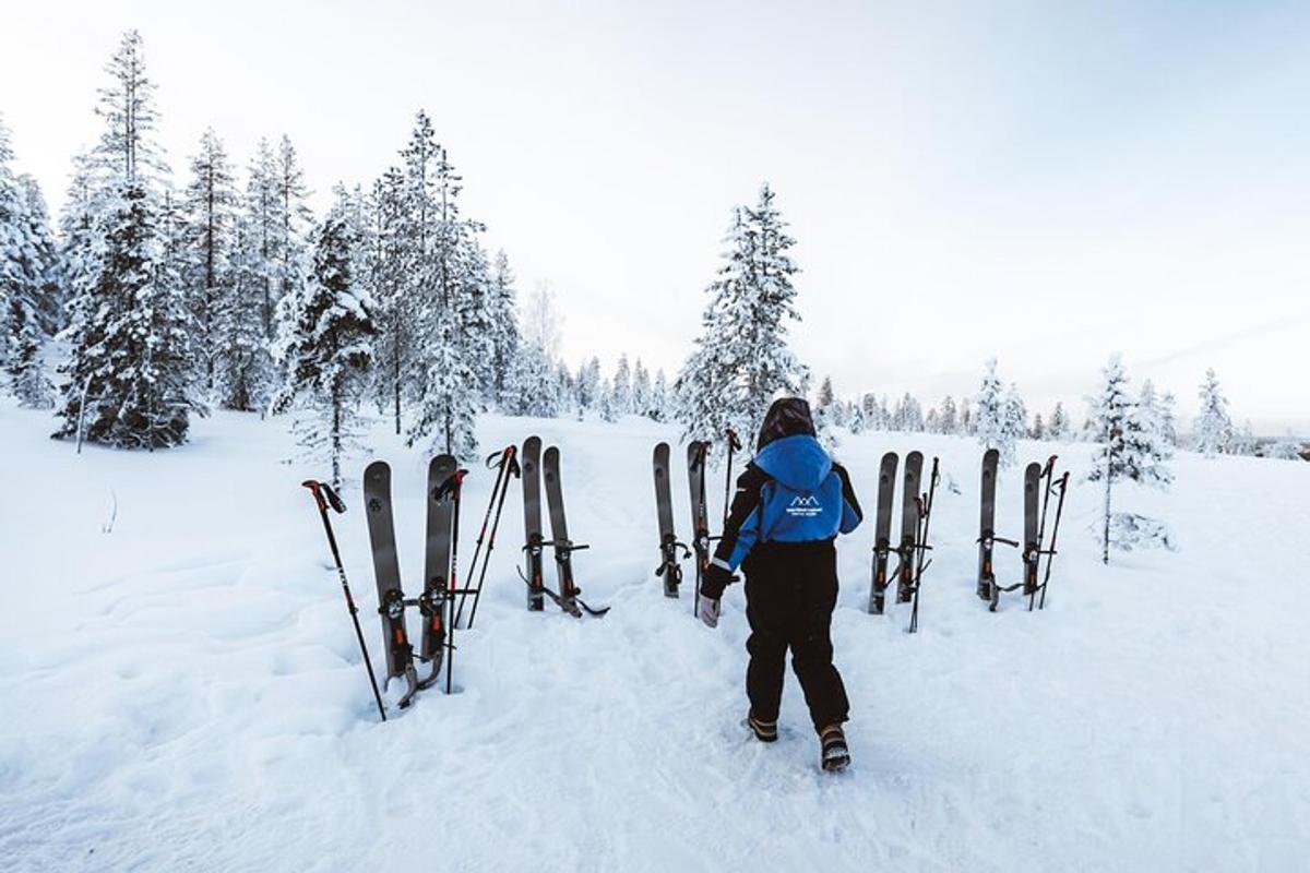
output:
<svg viewBox="0 0 1310 873"><path fill-rule="evenodd" d="M782 437L760 449L738 479L713 563L732 572L758 542L833 539L858 527L862 517L850 478L819 440Z"/></svg>

